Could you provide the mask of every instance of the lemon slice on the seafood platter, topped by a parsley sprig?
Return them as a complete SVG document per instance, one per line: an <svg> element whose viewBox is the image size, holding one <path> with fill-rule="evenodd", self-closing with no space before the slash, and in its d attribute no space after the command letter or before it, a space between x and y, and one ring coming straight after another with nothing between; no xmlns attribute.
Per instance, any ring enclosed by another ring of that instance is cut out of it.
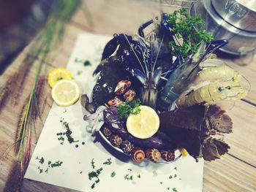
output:
<svg viewBox="0 0 256 192"><path fill-rule="evenodd" d="M127 118L127 131L132 136L146 139L152 137L159 128L159 116L151 107L140 106L138 115L129 115Z"/></svg>

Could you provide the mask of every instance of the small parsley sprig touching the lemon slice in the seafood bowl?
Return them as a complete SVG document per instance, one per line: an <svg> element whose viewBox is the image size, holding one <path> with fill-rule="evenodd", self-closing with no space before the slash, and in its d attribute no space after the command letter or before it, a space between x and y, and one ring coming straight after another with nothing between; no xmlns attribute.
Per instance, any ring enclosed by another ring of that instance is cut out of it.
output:
<svg viewBox="0 0 256 192"><path fill-rule="evenodd" d="M132 102L124 101L117 107L117 112L122 118L128 118L130 114L138 115L140 113L140 99Z"/></svg>

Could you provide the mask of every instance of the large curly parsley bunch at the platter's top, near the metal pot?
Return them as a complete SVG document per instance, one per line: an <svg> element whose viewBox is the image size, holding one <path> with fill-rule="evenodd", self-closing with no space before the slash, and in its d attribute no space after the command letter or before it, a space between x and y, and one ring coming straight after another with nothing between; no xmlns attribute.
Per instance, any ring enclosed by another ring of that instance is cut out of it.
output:
<svg viewBox="0 0 256 192"><path fill-rule="evenodd" d="M202 43L210 42L213 35L203 30L205 22L200 16L191 17L186 9L179 9L168 15L167 22L174 33L169 46L173 50L173 55L185 58L191 51L192 54L197 53L198 47ZM181 43L182 42L182 43Z"/></svg>

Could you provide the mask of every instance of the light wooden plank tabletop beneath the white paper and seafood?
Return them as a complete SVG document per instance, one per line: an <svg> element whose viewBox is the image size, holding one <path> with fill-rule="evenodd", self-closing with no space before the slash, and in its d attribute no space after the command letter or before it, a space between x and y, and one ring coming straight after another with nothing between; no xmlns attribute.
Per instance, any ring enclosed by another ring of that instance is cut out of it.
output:
<svg viewBox="0 0 256 192"><path fill-rule="evenodd" d="M154 6L145 4L143 1L129 1L129 3L127 0L86 1L86 7L89 9L94 25L90 26L89 21L84 17L83 10L78 9L72 20L67 23L67 33L65 34L63 45L56 50L55 60L48 62L48 70L53 67L67 65L75 39L83 31L109 35L114 33L134 34L140 23L157 15L157 6L157 4L154 4ZM165 11L168 11L167 7L165 9ZM0 87L18 69L20 61L25 56L26 50L0 76ZM34 59L32 55L31 59ZM223 59L227 64L244 74L251 83L252 88L248 96L242 101L237 101L233 110L228 112L233 119L234 125L233 133L226 137L226 141L231 148L221 160L205 163L203 191L256 191L256 58L249 63L246 61L249 58L235 58L230 56ZM246 66L241 65L244 61L248 63ZM8 99L4 110L0 113L0 154L3 154L14 142L18 114L29 95L34 73L35 67L32 67L26 77L23 89L20 90L17 104L14 106L12 99ZM36 125L37 133L42 130L43 123L53 104L48 85L45 85L43 88L42 99L46 99L46 105L42 113L42 122L38 120ZM1 159L0 191L4 188L13 159L14 154L12 150L5 158ZM71 190L32 180L24 180L23 191L53 192Z"/></svg>

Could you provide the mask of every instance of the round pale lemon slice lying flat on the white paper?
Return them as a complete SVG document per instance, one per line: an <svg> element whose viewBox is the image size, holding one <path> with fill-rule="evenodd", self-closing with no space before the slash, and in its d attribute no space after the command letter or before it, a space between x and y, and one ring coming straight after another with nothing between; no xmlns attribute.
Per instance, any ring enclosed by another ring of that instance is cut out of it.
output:
<svg viewBox="0 0 256 192"><path fill-rule="evenodd" d="M78 84L72 80L59 80L51 91L53 100L62 107L67 107L78 101L80 90Z"/></svg>

